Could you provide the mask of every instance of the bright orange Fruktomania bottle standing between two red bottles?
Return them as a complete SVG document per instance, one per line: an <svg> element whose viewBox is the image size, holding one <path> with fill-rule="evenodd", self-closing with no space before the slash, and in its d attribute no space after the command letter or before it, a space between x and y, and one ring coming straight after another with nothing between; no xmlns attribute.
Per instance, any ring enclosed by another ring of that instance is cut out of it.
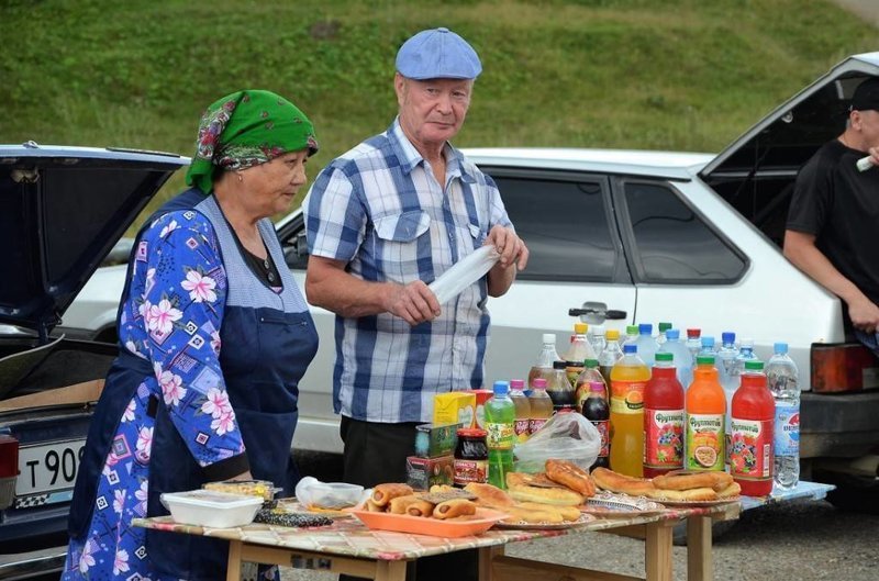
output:
<svg viewBox="0 0 879 581"><path fill-rule="evenodd" d="M726 458L726 396L713 355L700 355L687 390L686 470L723 470Z"/></svg>

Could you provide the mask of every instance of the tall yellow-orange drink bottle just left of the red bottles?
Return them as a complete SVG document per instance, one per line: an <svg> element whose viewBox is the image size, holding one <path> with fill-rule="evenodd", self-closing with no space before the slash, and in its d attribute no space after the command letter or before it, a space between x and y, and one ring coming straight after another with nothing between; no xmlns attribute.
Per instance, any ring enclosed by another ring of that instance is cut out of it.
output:
<svg viewBox="0 0 879 581"><path fill-rule="evenodd" d="M649 379L637 346L624 345L623 358L611 369L611 470L638 478L643 476L644 387Z"/></svg>

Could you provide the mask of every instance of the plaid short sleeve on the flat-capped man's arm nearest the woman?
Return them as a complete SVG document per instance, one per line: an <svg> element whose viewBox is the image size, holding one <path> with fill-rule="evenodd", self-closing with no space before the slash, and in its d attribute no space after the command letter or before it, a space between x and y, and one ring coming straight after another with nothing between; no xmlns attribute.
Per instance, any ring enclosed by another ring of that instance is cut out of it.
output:
<svg viewBox="0 0 879 581"><path fill-rule="evenodd" d="M302 202L309 254L349 261L366 232L366 209L357 195L354 164L331 165L314 180Z"/></svg>

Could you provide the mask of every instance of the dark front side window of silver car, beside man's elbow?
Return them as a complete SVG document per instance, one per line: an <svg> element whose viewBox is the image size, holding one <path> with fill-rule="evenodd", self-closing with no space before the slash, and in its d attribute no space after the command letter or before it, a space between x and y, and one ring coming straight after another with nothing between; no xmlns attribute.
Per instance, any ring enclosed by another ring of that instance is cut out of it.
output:
<svg viewBox="0 0 879 581"><path fill-rule="evenodd" d="M610 226L604 180L489 174L531 254L518 278L614 282L623 272L627 279L622 246Z"/></svg>

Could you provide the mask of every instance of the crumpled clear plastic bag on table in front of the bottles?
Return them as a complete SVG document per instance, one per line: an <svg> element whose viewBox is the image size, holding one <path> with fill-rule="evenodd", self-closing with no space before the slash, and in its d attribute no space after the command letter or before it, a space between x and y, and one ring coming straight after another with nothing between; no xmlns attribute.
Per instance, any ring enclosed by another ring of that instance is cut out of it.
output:
<svg viewBox="0 0 879 581"><path fill-rule="evenodd" d="M592 423L577 413L556 414L524 444L515 447L519 472L543 472L549 458L570 460L589 470L601 448L601 435Z"/></svg>

